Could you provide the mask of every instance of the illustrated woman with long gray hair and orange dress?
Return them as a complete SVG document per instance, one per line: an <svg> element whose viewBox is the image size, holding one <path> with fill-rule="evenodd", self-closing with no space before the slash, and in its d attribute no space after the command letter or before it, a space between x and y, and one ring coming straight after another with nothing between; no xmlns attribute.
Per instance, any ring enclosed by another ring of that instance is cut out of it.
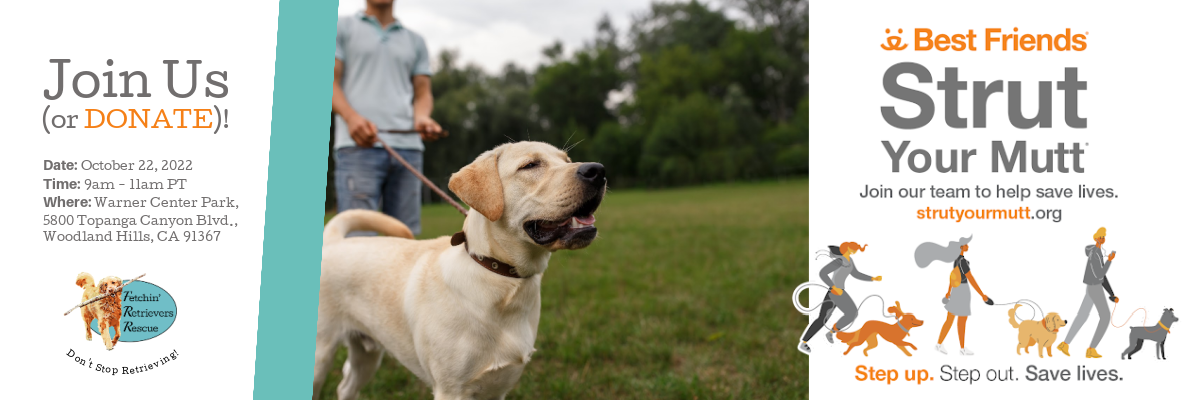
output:
<svg viewBox="0 0 1200 400"><path fill-rule="evenodd" d="M946 347L942 342L946 341L946 335L950 333L950 326L954 324L954 320L959 322L959 354L962 356L974 356L971 350L967 348L967 317L971 316L971 288L974 288L976 293L984 303L990 304L986 294L979 289L979 283L976 282L974 274L971 273L971 263L967 262L966 253L971 247L967 243L971 238L964 238L959 241L952 241L949 246L942 247L934 243L925 243L917 247L917 265L924 268L929 265L932 261L943 261L948 258L947 255L953 255L952 251L958 247L958 257L953 258L954 269L950 270L949 288L946 291L946 297L942 298L942 304L946 304L946 323L942 324L942 333L937 336L937 351L942 354L948 354ZM971 283L967 286L966 283Z"/></svg>

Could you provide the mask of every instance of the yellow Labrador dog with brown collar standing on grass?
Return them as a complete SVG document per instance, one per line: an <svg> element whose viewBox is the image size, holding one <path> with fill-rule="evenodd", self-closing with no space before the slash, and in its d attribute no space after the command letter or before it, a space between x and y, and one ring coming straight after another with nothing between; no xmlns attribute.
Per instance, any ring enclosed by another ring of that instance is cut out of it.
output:
<svg viewBox="0 0 1200 400"><path fill-rule="evenodd" d="M452 238L412 240L376 211L335 216L322 249L313 399L340 344L349 357L338 399L358 396L385 351L434 399L504 399L534 352L550 256L595 239L606 183L599 163L509 143L450 178L470 205ZM353 231L391 237L346 238Z"/></svg>

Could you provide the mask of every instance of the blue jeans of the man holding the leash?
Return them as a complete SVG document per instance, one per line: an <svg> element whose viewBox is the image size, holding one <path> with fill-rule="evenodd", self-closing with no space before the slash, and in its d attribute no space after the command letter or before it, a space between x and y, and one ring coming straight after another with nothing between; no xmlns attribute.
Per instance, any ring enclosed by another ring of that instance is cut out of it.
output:
<svg viewBox="0 0 1200 400"><path fill-rule="evenodd" d="M416 171L424 171L420 150L395 149ZM421 234L421 180L382 148L347 147L337 149L337 211L377 210L404 222L413 234ZM372 235L352 232L350 237Z"/></svg>

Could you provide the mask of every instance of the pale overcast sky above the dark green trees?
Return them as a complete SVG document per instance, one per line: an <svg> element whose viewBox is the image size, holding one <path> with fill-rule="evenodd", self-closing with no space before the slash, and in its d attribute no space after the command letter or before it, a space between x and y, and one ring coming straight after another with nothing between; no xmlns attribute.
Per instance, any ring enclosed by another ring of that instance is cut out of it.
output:
<svg viewBox="0 0 1200 400"><path fill-rule="evenodd" d="M337 13L364 8L365 0L340 0ZM632 13L649 8L650 0L396 0L395 14L425 36L431 55L458 49L460 60L497 72L508 61L536 66L554 40L580 48L606 12L624 35Z"/></svg>

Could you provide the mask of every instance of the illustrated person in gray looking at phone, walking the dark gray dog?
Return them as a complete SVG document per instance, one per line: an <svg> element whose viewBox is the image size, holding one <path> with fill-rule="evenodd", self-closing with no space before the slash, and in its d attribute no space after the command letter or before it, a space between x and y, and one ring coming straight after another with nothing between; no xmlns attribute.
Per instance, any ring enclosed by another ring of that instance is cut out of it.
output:
<svg viewBox="0 0 1200 400"><path fill-rule="evenodd" d="M1087 346L1087 358L1100 358L1100 353L1096 352L1096 346L1100 344L1100 339L1104 339L1104 332L1108 330L1109 324L1109 303L1104 299L1104 292L1109 292L1108 300L1112 303L1118 303L1121 299L1116 294L1112 294L1112 286L1109 285L1109 267L1112 265L1112 258L1116 258L1117 252L1110 252L1105 261L1104 249L1104 237L1108 235L1108 231L1103 227L1096 231L1092 239L1096 240L1096 245L1088 245L1084 247L1084 252L1087 255L1087 267L1084 270L1084 285L1087 285L1087 289L1084 293L1084 303L1079 305L1079 314L1075 315L1075 324L1070 327L1067 332L1067 340L1058 344L1058 351L1068 357L1070 353L1067 351L1070 348L1070 341L1075 339L1075 334L1079 333L1079 327L1084 326L1087 321L1087 315L1092 314L1092 308L1096 308L1096 314L1100 316L1100 323L1096 326L1096 333L1092 334L1092 342Z"/></svg>

